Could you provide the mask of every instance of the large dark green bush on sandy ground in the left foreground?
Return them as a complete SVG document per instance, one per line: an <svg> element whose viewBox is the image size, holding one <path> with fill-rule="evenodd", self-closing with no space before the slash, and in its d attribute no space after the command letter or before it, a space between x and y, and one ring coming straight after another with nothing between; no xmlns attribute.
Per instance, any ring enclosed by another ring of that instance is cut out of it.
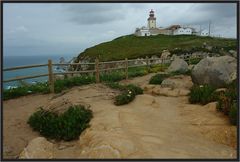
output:
<svg viewBox="0 0 240 162"><path fill-rule="evenodd" d="M92 117L92 111L84 106L72 106L61 115L40 108L30 116L28 124L44 137L69 141L89 127Z"/></svg>

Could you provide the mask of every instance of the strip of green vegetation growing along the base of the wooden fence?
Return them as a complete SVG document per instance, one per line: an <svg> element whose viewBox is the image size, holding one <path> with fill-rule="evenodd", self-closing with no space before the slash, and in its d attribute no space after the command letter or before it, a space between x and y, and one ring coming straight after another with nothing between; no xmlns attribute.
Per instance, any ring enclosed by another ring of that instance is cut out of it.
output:
<svg viewBox="0 0 240 162"><path fill-rule="evenodd" d="M158 72L163 71L167 68L168 65L153 65L149 69L146 66L142 67L132 67L128 69L128 77L134 78L138 76L144 76L149 72ZM149 71L148 71L149 70ZM125 72L123 70L115 70L109 73L101 73L100 80L101 82L117 82L125 79ZM60 93L63 90L74 86L81 86L95 83L95 75L81 75L78 77L65 78L63 80L56 80L54 83L55 93ZM8 100L12 98L17 98L20 96L26 96L29 94L46 94L50 93L50 88L48 83L37 83L33 85L26 84L23 82L21 86L12 89L3 90L3 100Z"/></svg>

